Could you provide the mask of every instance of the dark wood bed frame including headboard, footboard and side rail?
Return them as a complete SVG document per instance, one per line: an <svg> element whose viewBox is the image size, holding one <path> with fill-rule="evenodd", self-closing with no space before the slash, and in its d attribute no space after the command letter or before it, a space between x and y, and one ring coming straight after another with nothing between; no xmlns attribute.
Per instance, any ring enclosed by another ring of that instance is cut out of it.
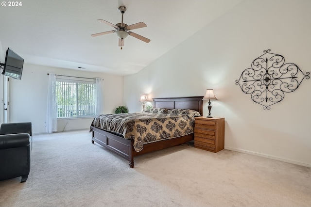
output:
<svg viewBox="0 0 311 207"><path fill-rule="evenodd" d="M203 115L203 96L153 98L154 108L165 109L192 109ZM134 167L134 157L148 152L176 146L193 140L193 133L168 140L144 144L143 149L136 152L133 146L134 140L127 140L117 133L111 133L103 129L92 127L92 143L96 142L105 148L117 153L129 161L131 168Z"/></svg>

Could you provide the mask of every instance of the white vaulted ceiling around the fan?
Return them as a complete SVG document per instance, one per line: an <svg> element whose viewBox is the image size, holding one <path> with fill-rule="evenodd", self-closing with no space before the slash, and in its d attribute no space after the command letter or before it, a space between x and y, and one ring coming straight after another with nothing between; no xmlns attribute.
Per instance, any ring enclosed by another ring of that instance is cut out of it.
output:
<svg viewBox="0 0 311 207"><path fill-rule="evenodd" d="M124 76L137 73L241 1L25 0L18 7L1 6L0 43L25 63ZM91 36L114 30L97 19L121 23L121 5L127 9L123 23L144 22L147 27L132 32L150 43L128 36L120 49L116 33Z"/></svg>

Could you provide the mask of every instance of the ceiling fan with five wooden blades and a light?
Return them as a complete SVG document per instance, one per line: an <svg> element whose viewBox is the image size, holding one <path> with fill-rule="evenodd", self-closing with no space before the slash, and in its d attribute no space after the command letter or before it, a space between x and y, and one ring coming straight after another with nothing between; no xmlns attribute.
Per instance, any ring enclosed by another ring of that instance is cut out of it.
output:
<svg viewBox="0 0 311 207"><path fill-rule="evenodd" d="M118 37L119 37L119 47L121 47L122 49L122 46L124 46L124 39L130 35L130 36L133 36L141 41L144 41L146 43L149 43L150 42L150 39L146 38L146 37L143 37L137 33L134 33L134 32L128 32L129 30L135 30L135 29L138 29L138 28L142 28L142 27L147 27L147 25L143 22L138 22L136 24L132 24L132 25L127 25L127 24L124 24L123 23L123 14L125 13L126 11L126 7L125 6L120 6L119 7L119 12L121 12L122 14L122 21L121 23L118 23L116 25L110 23L110 22L107 22L105 21L104 19L97 19L98 21L101 21L107 25L110 25L112 27L114 27L116 30L113 30L113 31L107 31L107 32L100 32L100 33L96 33L96 34L91 34L92 37L96 37L96 36L100 36L100 35L103 35L103 34L109 34L109 33L114 33L116 32Z"/></svg>

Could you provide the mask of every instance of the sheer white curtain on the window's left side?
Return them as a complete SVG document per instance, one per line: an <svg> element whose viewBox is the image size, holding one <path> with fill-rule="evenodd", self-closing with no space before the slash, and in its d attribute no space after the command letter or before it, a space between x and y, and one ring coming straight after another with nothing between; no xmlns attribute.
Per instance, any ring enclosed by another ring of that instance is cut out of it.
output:
<svg viewBox="0 0 311 207"><path fill-rule="evenodd" d="M48 104L47 104L47 132L57 131L57 106L56 106L56 77L49 75Z"/></svg>

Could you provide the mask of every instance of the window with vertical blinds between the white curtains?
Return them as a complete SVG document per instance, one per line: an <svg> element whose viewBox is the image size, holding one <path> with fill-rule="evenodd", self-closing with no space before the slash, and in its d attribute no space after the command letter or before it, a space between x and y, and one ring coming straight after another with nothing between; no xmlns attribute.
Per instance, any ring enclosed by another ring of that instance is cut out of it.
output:
<svg viewBox="0 0 311 207"><path fill-rule="evenodd" d="M57 118L96 115L96 82L56 80Z"/></svg>

